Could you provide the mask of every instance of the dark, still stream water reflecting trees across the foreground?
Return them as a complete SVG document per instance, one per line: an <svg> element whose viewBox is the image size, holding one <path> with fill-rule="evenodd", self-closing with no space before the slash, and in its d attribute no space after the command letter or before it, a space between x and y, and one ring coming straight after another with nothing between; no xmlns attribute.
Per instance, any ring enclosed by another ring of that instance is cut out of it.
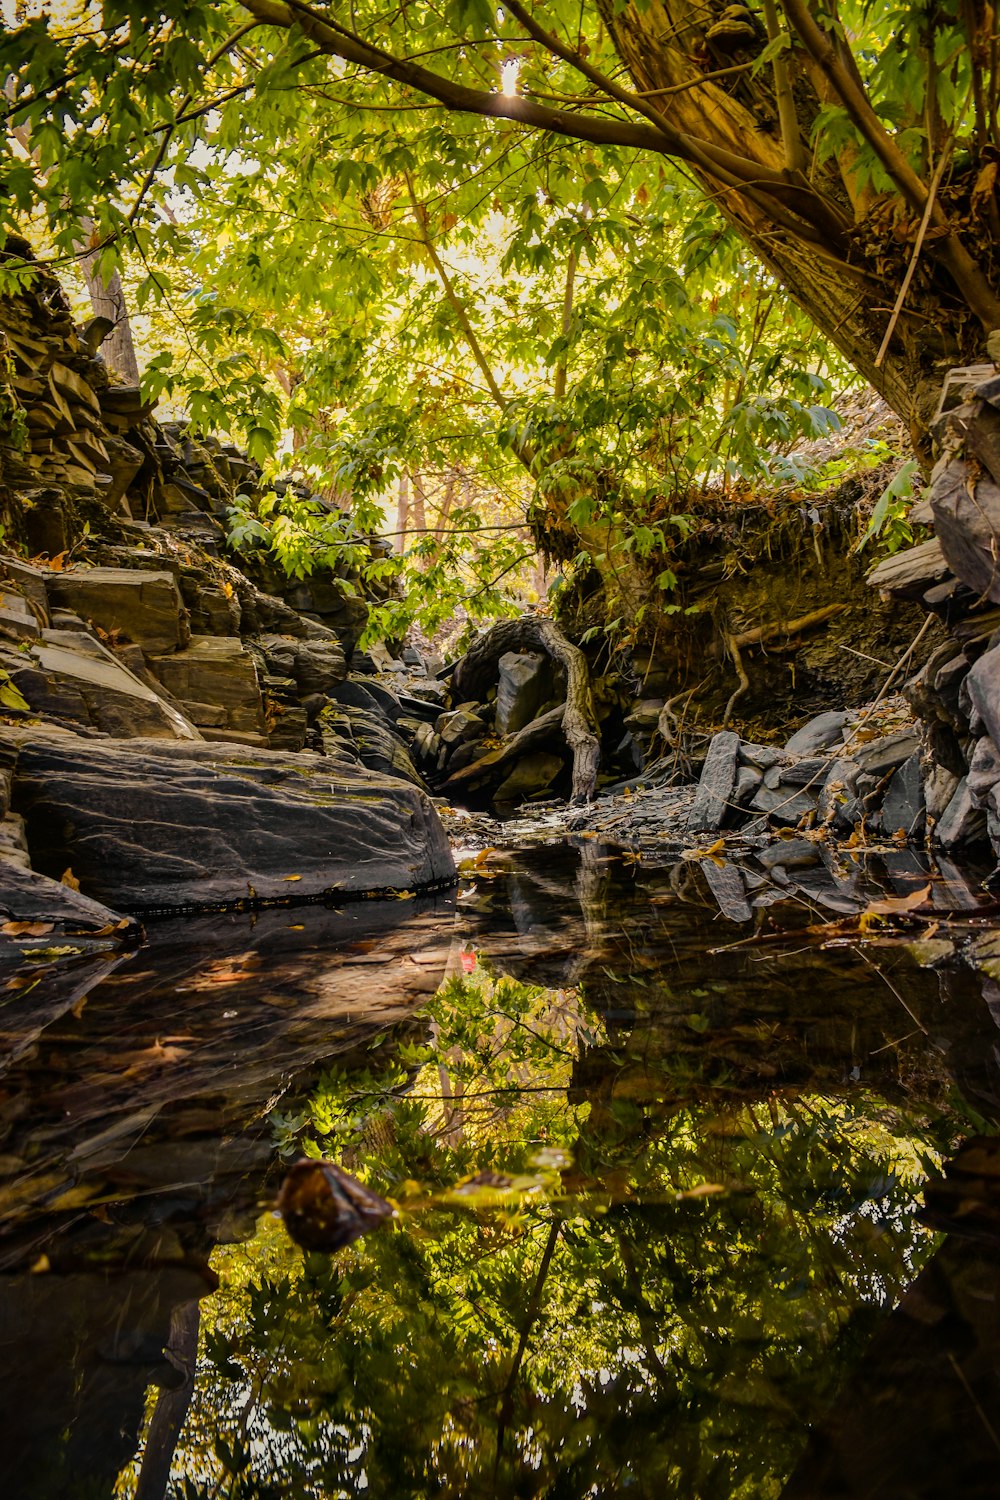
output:
<svg viewBox="0 0 1000 1500"><path fill-rule="evenodd" d="M7 970L6 1492L1000 1494L996 1251L919 1218L997 984L765 915L580 840ZM396 1216L303 1254L303 1152Z"/></svg>

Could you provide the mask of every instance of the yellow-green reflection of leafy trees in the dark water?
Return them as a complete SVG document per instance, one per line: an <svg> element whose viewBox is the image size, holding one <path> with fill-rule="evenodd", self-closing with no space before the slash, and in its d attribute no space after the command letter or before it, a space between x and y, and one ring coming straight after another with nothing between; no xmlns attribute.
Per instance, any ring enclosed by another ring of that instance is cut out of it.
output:
<svg viewBox="0 0 1000 1500"><path fill-rule="evenodd" d="M915 1197L955 1116L745 1089L700 1010L672 1034L699 1071L483 962L426 1016L274 1118L399 1215L336 1256L273 1216L216 1251L168 1494L780 1496L934 1246Z"/></svg>

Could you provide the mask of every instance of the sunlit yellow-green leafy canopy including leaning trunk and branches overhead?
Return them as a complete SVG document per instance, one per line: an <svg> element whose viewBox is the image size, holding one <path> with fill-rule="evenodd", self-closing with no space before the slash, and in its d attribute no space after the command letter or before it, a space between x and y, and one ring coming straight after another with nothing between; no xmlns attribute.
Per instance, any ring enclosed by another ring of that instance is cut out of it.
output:
<svg viewBox="0 0 1000 1500"><path fill-rule="evenodd" d="M435 562L489 612L532 542L669 596L693 498L823 430L838 357L919 434L1000 326L996 52L969 0L22 4L0 213L57 264L90 226L196 423L265 458L289 418L361 525L447 494L430 624Z"/></svg>

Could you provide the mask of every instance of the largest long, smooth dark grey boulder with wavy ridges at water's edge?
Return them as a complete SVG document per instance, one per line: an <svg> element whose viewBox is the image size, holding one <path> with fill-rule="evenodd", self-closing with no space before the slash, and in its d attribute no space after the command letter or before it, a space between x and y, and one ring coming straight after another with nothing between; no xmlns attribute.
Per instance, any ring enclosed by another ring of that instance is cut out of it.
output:
<svg viewBox="0 0 1000 1500"><path fill-rule="evenodd" d="M309 753L6 730L36 870L129 912L415 890L454 873L429 798Z"/></svg>

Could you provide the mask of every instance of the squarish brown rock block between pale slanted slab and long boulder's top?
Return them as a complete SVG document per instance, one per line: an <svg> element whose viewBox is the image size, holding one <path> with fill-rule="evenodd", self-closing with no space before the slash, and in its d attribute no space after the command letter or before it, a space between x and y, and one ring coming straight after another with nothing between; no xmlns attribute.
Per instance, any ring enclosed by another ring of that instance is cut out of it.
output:
<svg viewBox="0 0 1000 1500"><path fill-rule="evenodd" d="M150 669L193 723L202 704L225 711L222 724L199 724L205 740L267 744L256 664L238 636L192 636L184 651L150 657Z"/></svg>

